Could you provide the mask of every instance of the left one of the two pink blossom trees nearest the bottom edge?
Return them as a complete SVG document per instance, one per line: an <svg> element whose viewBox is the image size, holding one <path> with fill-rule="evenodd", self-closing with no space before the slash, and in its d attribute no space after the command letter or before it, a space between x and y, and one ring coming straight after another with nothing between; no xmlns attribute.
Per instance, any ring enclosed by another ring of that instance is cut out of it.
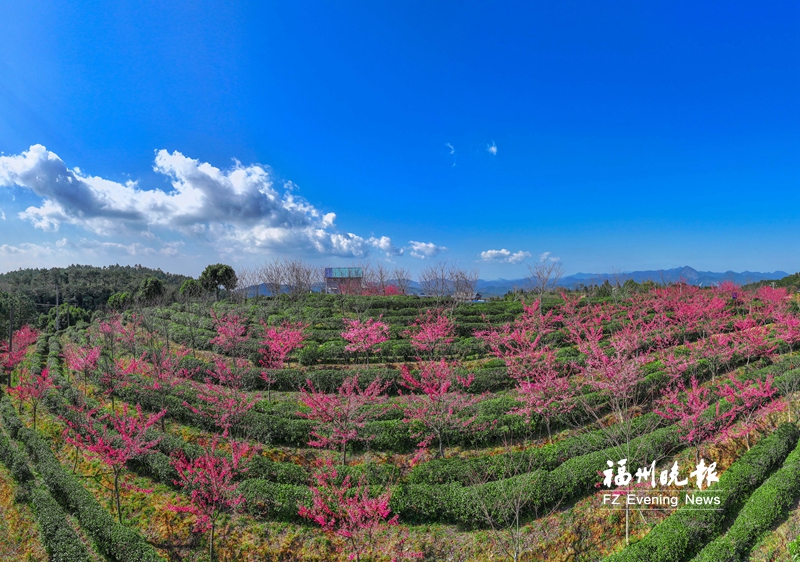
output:
<svg viewBox="0 0 800 562"><path fill-rule="evenodd" d="M176 513L190 513L196 517L194 531L209 533L208 555L212 562L217 521L220 515L244 503L244 496L238 490L239 477L246 472L247 461L255 452L248 444L235 441L231 442L230 449L230 457L223 454L215 436L204 446L202 455L187 459L180 451L171 460L178 472L175 484L190 490L190 505L167 507Z"/></svg>

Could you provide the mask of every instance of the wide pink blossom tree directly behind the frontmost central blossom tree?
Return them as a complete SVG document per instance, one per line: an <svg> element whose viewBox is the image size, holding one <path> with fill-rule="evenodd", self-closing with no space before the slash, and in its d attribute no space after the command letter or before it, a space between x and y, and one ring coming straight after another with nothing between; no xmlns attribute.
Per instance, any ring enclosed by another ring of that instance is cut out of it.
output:
<svg viewBox="0 0 800 562"><path fill-rule="evenodd" d="M390 383L373 380L363 390L358 385L358 375L347 377L338 392L327 394L314 388L309 380L301 389L300 403L308 408L298 414L319 423L311 432L312 447L330 447L342 452L342 466L347 464L347 444L369 441L374 435L364 435L367 422L383 413L376 406L386 402L384 394Z"/></svg>

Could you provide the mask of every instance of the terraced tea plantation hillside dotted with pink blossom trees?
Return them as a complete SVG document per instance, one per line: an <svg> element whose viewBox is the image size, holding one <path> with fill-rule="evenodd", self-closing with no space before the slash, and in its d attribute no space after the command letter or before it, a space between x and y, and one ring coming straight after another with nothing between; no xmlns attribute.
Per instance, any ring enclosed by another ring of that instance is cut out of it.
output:
<svg viewBox="0 0 800 562"><path fill-rule="evenodd" d="M800 315L784 288L182 301L25 327L0 350L0 552L800 551Z"/></svg>

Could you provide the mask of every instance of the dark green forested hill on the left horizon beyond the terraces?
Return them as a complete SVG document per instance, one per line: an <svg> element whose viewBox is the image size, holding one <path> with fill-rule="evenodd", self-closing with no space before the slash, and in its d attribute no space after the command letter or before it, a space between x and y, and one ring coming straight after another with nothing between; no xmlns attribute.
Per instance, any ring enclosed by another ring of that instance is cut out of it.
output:
<svg viewBox="0 0 800 562"><path fill-rule="evenodd" d="M114 293L134 294L148 277L160 280L168 292L177 291L181 283L190 279L141 265L71 265L0 273L0 291L22 293L37 304L55 304L58 286L61 302L96 310L105 306Z"/></svg>

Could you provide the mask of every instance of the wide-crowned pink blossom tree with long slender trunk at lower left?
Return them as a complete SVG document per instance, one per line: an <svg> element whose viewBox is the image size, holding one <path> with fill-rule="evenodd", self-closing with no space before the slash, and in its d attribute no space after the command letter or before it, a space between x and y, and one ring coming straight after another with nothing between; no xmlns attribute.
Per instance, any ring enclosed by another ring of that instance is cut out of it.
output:
<svg viewBox="0 0 800 562"><path fill-rule="evenodd" d="M136 405L136 414L129 411L124 404L122 410L95 417L97 410L89 410L78 425L64 420L72 435L67 434L66 441L86 450L90 456L105 464L114 478L114 500L117 506L119 522L122 523L119 488L120 476L125 464L135 457L152 452L160 438L148 440L147 430L158 423L166 411L145 416L142 407Z"/></svg>

